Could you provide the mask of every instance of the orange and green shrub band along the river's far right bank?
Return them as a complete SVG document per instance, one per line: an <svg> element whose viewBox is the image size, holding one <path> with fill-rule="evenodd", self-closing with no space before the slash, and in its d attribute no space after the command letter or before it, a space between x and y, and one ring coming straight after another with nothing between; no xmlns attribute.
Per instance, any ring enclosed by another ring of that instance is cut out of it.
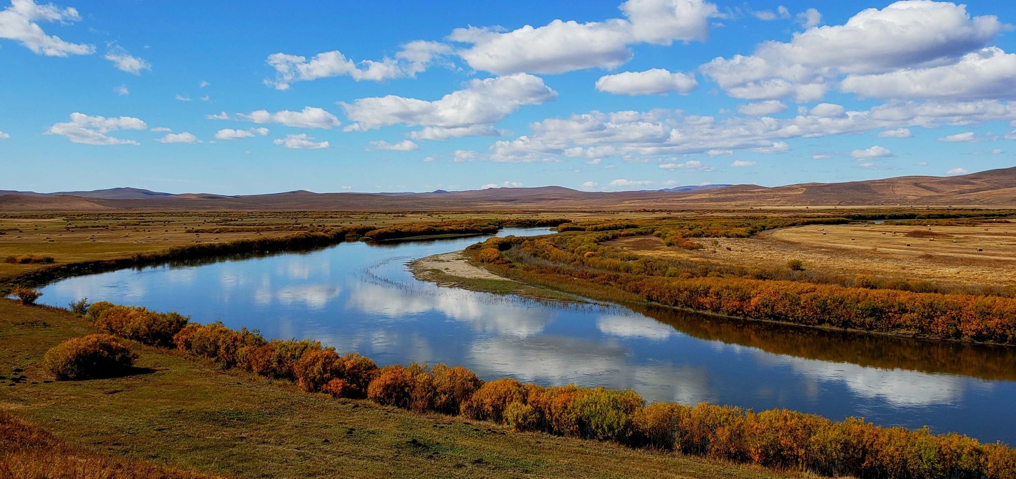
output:
<svg viewBox="0 0 1016 479"><path fill-rule="evenodd" d="M934 340L1016 344L1016 298L917 292L756 279L751 271L725 276L708 268L681 269L605 245L651 235L684 249L695 238L747 237L828 218L707 218L566 224L567 234L494 237L466 249L472 261L511 279L614 302L641 302L799 326ZM836 219L836 218L833 218Z"/></svg>

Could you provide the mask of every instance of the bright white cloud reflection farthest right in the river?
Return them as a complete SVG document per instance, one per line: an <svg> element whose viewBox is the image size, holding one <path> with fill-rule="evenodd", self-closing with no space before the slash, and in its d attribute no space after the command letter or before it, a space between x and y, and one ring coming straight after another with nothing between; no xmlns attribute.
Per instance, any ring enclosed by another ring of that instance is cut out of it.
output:
<svg viewBox="0 0 1016 479"><path fill-rule="evenodd" d="M957 404L967 386L974 382L957 375L883 369L817 359L785 357L784 361L799 374L816 381L840 382L858 396L882 399L896 406ZM980 383L991 388L990 383Z"/></svg>

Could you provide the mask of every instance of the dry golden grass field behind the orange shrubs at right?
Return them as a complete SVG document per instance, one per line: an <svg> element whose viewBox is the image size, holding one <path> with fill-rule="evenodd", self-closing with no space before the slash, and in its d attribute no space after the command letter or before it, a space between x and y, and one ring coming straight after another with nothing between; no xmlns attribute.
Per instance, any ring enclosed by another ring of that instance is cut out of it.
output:
<svg viewBox="0 0 1016 479"><path fill-rule="evenodd" d="M704 248L669 248L655 237L629 237L611 245L639 254L746 267L779 267L798 259L806 269L828 274L869 274L957 286L1016 285L1016 223L809 225L750 238L696 242Z"/></svg>

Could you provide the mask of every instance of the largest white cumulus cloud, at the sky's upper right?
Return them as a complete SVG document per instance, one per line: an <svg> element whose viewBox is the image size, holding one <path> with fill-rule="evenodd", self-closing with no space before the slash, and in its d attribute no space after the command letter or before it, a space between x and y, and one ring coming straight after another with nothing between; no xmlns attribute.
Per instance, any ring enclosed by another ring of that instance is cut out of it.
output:
<svg viewBox="0 0 1016 479"><path fill-rule="evenodd" d="M795 33L787 43L762 43L749 56L716 58L701 69L727 94L740 98L793 96L799 101L816 100L836 84L840 75L852 75L843 81L846 91L903 96L905 83L878 92L874 84L883 79L868 76L914 75L905 70L955 63L1009 28L994 15L971 17L962 4L904 0L881 10L863 10L842 25L809 27ZM1000 81L1000 77L1005 75L980 83ZM959 85L943 86L945 90L959 90L945 96L973 95ZM967 85L966 89L971 87Z"/></svg>

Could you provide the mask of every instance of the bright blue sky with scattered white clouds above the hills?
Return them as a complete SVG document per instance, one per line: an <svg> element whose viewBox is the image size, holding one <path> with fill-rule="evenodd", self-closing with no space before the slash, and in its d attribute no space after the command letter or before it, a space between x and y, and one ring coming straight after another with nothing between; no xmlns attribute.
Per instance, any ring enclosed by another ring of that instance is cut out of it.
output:
<svg viewBox="0 0 1016 479"><path fill-rule="evenodd" d="M0 189L766 186L1012 166L1016 7L0 6Z"/></svg>

